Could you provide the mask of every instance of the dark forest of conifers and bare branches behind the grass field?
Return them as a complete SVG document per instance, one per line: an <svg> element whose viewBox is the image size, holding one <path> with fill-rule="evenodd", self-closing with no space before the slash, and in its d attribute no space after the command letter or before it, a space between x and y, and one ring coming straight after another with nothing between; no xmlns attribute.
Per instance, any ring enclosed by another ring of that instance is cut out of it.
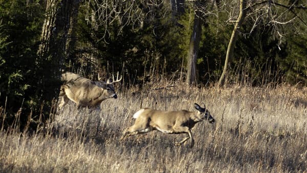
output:
<svg viewBox="0 0 307 173"><path fill-rule="evenodd" d="M216 85L239 3L245 17L222 87L306 86L305 1L0 1L0 122L48 119L62 71L92 80L118 71L124 89Z"/></svg>

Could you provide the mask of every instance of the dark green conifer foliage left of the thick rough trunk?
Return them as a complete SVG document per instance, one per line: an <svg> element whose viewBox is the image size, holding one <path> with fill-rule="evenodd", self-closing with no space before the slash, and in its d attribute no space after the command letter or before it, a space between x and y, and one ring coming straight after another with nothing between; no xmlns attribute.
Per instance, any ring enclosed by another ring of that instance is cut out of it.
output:
<svg viewBox="0 0 307 173"><path fill-rule="evenodd" d="M38 1L0 3L0 106L7 104L9 114L16 113L21 106L29 113L37 87L36 52L41 21L42 7Z"/></svg>

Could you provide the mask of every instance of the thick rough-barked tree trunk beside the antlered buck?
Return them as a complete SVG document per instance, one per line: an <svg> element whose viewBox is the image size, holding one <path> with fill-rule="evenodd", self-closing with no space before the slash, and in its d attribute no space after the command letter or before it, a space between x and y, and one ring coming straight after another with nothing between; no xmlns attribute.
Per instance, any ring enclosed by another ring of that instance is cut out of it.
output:
<svg viewBox="0 0 307 173"><path fill-rule="evenodd" d="M63 62L74 47L74 41L69 38L73 38L73 23L79 4L80 0L47 1L46 19L37 51L37 72L41 76L37 95L41 101L50 103L58 96ZM48 110L48 106L45 107Z"/></svg>

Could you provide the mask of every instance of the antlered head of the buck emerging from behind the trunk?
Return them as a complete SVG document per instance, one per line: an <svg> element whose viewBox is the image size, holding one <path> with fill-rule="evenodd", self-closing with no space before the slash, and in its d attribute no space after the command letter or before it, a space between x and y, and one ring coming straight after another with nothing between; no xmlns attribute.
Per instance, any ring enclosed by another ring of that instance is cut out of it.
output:
<svg viewBox="0 0 307 173"><path fill-rule="evenodd" d="M106 82L103 82L101 81L101 78L99 77L99 73L98 73L99 82L95 82L95 83L99 88L104 90L103 93L104 95L108 96L108 98L117 98L117 95L114 89L114 83L121 81L122 76L120 77L120 79L118 79L118 72L117 72L116 80L114 79L114 75L112 76L113 76L112 82L109 79L107 79Z"/></svg>

